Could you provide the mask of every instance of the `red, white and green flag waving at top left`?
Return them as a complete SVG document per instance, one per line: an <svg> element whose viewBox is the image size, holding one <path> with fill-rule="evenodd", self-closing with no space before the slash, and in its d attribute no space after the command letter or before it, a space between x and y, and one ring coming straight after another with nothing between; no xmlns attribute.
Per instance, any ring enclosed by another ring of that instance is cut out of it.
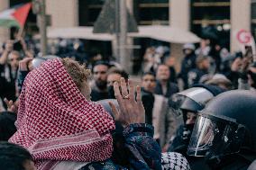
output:
<svg viewBox="0 0 256 170"><path fill-rule="evenodd" d="M31 7L32 3L28 3L0 12L0 26L23 28Z"/></svg>

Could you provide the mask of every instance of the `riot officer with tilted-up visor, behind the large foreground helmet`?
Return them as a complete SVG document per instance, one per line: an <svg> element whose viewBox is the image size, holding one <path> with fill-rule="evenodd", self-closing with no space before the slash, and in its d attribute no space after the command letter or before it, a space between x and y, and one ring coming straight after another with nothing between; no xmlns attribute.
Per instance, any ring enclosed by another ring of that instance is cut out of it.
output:
<svg viewBox="0 0 256 170"><path fill-rule="evenodd" d="M195 85L175 94L169 101L170 106L175 109L175 112L182 114L184 120L184 124L180 125L177 130L176 137L171 141L169 151L178 152L185 156L191 169L198 169L199 167L207 169L204 159L187 156L187 147L197 119L197 112L204 109L206 103L215 95L223 92L222 88L215 85Z"/></svg>

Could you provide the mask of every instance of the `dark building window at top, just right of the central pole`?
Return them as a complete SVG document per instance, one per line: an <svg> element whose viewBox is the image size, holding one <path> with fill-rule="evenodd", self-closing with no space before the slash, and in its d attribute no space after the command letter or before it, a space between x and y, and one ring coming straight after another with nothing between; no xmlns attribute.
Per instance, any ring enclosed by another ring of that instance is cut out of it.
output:
<svg viewBox="0 0 256 170"><path fill-rule="evenodd" d="M169 24L169 0L136 0L133 5L139 25Z"/></svg>

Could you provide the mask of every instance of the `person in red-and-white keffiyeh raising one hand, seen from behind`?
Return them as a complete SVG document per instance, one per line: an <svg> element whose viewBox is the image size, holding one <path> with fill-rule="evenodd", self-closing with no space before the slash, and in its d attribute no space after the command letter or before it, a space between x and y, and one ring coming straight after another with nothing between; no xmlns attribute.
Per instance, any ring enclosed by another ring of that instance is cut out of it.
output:
<svg viewBox="0 0 256 170"><path fill-rule="evenodd" d="M121 78L121 88L115 83L120 109L109 103L110 114L90 102L88 76L85 67L67 58L32 70L20 95L17 132L9 141L27 148L39 170L169 169L152 138L153 127L144 123L140 87L135 99L130 80L126 85Z"/></svg>

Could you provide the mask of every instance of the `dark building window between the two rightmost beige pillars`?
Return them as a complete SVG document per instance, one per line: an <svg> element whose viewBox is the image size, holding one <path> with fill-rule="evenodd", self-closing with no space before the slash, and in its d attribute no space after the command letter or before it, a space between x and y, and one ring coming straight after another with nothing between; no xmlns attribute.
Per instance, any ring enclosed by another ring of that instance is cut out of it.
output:
<svg viewBox="0 0 256 170"><path fill-rule="evenodd" d="M229 48L230 4L230 0L191 0L191 31Z"/></svg>

